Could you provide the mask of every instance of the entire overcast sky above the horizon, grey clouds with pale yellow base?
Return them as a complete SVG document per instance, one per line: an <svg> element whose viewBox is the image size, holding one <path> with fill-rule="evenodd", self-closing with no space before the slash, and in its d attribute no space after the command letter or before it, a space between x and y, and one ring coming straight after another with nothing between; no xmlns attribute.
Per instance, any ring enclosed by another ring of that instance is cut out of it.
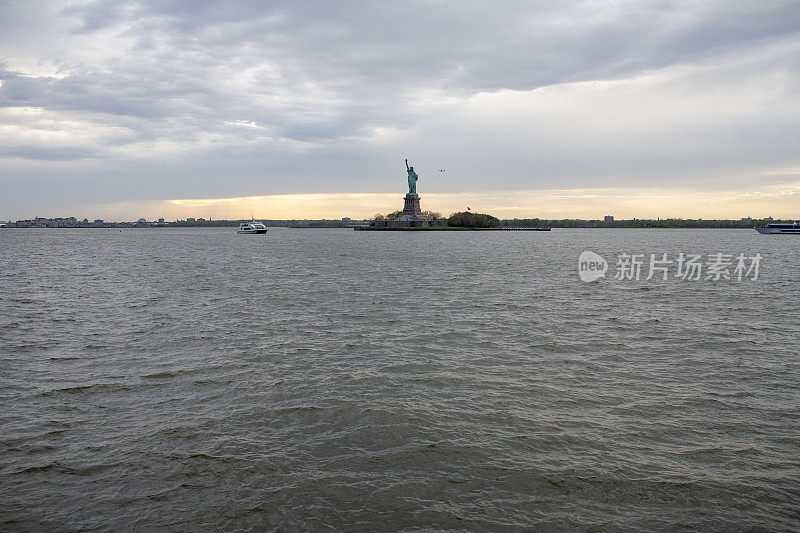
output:
<svg viewBox="0 0 800 533"><path fill-rule="evenodd" d="M796 0L7 0L0 83L0 220L366 216L406 157L443 212L800 217Z"/></svg>

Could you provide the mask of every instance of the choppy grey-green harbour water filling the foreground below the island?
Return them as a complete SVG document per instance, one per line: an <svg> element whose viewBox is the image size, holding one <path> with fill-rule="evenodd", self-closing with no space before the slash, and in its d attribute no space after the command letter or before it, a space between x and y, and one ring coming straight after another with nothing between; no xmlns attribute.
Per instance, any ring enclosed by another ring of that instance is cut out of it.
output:
<svg viewBox="0 0 800 533"><path fill-rule="evenodd" d="M586 249L764 259L587 284ZM0 230L0 252L2 530L800 523L796 237Z"/></svg>

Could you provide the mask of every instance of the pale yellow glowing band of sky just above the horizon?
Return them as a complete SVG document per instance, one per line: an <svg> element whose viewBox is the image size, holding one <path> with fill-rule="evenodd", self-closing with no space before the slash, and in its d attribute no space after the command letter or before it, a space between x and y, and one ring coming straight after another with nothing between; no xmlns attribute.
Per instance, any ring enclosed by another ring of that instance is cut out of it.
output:
<svg viewBox="0 0 800 533"><path fill-rule="evenodd" d="M420 197L424 210L446 216L470 207L502 219L602 219L605 215L617 219L800 217L800 182L731 191L583 188L427 193ZM260 219L286 220L370 218L402 206L402 193L313 193L125 202L86 206L86 209L97 213L94 216L110 220L244 219L251 214Z"/></svg>

